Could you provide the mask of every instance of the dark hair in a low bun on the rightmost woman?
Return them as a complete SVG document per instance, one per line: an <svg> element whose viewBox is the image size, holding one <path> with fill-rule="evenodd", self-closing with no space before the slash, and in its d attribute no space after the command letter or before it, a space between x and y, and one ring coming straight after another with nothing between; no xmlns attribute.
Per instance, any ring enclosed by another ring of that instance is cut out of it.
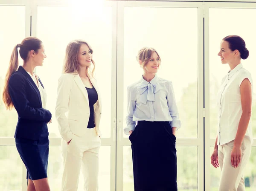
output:
<svg viewBox="0 0 256 191"><path fill-rule="evenodd" d="M244 39L237 35L229 35L223 38L224 41L229 43L229 48L232 51L238 50L240 52L240 56L243 60L248 58L249 50L245 47Z"/></svg>

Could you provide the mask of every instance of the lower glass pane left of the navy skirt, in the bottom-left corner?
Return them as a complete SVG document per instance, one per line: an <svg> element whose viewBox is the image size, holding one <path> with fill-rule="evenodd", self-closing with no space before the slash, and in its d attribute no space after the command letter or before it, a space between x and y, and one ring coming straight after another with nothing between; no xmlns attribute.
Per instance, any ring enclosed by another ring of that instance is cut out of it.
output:
<svg viewBox="0 0 256 191"><path fill-rule="evenodd" d="M0 146L0 190L20 191L23 162L16 146Z"/></svg>

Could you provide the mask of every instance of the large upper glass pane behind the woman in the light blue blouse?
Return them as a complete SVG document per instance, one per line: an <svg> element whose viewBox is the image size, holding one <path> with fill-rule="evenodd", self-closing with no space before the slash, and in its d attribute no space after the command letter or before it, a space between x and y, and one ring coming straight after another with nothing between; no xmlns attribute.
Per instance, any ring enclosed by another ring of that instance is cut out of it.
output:
<svg viewBox="0 0 256 191"><path fill-rule="evenodd" d="M149 19L145 19L145 15L148 15ZM186 46L181 42L186 42ZM177 137L196 138L198 130L197 8L125 7L124 119L127 115L127 86L138 81L143 74L136 56L144 46L157 49L162 59L158 76L173 82L182 128L186 128L179 130Z"/></svg>

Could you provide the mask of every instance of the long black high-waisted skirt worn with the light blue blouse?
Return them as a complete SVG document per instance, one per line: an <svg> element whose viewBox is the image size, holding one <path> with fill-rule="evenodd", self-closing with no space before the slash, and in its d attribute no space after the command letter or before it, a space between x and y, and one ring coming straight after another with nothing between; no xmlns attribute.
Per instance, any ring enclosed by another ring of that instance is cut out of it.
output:
<svg viewBox="0 0 256 191"><path fill-rule="evenodd" d="M169 122L139 121L129 136L134 191L177 191L177 156Z"/></svg>

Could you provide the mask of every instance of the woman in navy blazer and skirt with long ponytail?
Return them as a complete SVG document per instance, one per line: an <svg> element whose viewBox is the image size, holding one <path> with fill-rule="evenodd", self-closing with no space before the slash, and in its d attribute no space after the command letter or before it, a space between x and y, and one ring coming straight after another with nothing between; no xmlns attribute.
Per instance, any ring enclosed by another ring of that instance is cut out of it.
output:
<svg viewBox="0 0 256 191"><path fill-rule="evenodd" d="M18 67L18 48L23 66ZM3 101L8 110L18 113L15 143L27 169L28 191L49 191L47 165L49 139L47 123L52 114L45 109L46 93L33 70L42 66L44 45L38 38L25 38L13 49L5 78Z"/></svg>

